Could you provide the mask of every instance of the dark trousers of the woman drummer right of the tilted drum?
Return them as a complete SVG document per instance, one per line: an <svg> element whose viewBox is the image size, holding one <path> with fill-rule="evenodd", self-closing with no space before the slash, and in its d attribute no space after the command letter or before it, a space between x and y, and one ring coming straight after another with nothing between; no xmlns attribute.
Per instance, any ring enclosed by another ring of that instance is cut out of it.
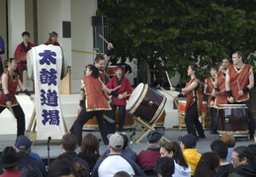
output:
<svg viewBox="0 0 256 177"><path fill-rule="evenodd" d="M205 136L205 131L202 127L201 122L199 121L199 116L198 116L198 108L197 108L197 103L193 103L192 106L187 110L186 116L185 116L185 123L187 127L188 134L192 134L197 137L197 132L199 136L204 137ZM196 132L196 129L197 132Z"/></svg>

